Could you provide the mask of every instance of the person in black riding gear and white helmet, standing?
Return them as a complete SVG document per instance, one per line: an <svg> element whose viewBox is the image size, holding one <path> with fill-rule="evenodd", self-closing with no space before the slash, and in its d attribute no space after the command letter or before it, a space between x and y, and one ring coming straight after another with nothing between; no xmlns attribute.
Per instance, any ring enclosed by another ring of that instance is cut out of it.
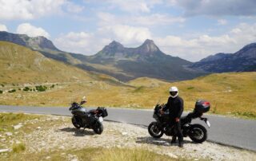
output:
<svg viewBox="0 0 256 161"><path fill-rule="evenodd" d="M174 125L176 130L176 134L171 139L170 143L176 143L176 139L178 136L178 147L183 147L183 135L181 129L181 116L183 112L183 100L180 96L178 96L178 88L171 87L170 88L170 97L168 98L167 104L164 108L162 108L161 113L165 112L169 109L170 115L170 126Z"/></svg>

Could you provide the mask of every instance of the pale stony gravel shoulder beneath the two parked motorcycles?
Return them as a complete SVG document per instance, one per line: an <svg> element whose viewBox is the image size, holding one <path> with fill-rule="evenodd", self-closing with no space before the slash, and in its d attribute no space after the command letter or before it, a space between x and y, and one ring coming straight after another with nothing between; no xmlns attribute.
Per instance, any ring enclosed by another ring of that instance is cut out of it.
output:
<svg viewBox="0 0 256 161"><path fill-rule="evenodd" d="M76 129L69 116L43 116L41 119L22 123L30 124L33 131L18 135L10 143L24 143L23 153L38 153L40 151L63 151L85 147L120 147L142 148L161 155L169 155L174 159L194 160L255 160L254 151L246 151L234 147L222 146L217 143L193 143L185 138L183 148L170 144L170 137L153 139L146 128L132 124L103 122L104 132L96 135L92 130ZM2 135L3 136L3 135ZM6 143L6 146L8 143ZM8 148L8 147L6 147ZM5 155L0 155L5 156Z"/></svg>

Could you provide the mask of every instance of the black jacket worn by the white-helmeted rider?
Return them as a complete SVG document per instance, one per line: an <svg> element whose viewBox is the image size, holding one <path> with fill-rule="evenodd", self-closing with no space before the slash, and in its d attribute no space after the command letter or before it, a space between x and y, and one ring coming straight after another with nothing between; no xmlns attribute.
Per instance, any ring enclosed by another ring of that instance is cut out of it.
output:
<svg viewBox="0 0 256 161"><path fill-rule="evenodd" d="M172 98L171 96L168 99L168 102L166 104L166 107L164 107L162 110L166 111L169 109L169 114L171 118L180 118L182 116L183 112L183 100L181 97L176 96L175 98Z"/></svg>

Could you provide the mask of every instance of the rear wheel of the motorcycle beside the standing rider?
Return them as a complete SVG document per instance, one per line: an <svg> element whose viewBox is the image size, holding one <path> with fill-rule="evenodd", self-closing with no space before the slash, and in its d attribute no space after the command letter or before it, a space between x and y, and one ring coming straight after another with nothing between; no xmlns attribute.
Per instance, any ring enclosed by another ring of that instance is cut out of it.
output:
<svg viewBox="0 0 256 161"><path fill-rule="evenodd" d="M201 124L192 124L189 136L195 143L202 143L207 139L207 130Z"/></svg>

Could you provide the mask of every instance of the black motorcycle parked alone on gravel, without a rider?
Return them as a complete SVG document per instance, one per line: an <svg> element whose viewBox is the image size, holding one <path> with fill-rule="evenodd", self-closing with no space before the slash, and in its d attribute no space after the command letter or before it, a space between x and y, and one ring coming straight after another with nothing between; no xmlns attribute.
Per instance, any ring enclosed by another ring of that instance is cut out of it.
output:
<svg viewBox="0 0 256 161"><path fill-rule="evenodd" d="M84 103L81 101L80 104L76 102L71 104L72 124L75 128L92 128L96 134L102 134L103 117L108 115L106 108L97 108L87 112L86 108L82 107Z"/></svg>

